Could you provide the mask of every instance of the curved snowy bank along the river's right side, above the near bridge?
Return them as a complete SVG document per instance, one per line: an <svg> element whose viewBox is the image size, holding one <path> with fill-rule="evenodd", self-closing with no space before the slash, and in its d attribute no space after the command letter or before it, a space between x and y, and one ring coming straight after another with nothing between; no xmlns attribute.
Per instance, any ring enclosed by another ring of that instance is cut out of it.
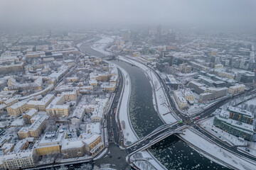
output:
<svg viewBox="0 0 256 170"><path fill-rule="evenodd" d="M119 60L128 62L130 64L134 64L140 69L142 69L144 74L146 74L146 77L148 77L150 84L155 91L155 93L153 91L153 95L155 95L153 97L154 99L156 99L156 102L154 102L154 104L157 104L157 107L154 108L158 108L158 111L157 109L156 111L161 115L161 119L164 120L165 123L175 123L178 120L178 118L175 118L173 115L171 115L172 111L171 108L169 108L169 103L167 101L168 99L164 94L164 88L161 86L156 74L154 74L154 72L152 72L151 69L146 67L144 64L135 62L134 60L129 60L121 56L119 56Z"/></svg>

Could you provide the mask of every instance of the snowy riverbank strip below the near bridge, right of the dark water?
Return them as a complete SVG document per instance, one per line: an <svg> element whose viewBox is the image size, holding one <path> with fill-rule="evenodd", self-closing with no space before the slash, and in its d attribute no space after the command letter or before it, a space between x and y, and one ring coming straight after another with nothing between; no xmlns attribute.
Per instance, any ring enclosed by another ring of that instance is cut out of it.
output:
<svg viewBox="0 0 256 170"><path fill-rule="evenodd" d="M210 156L210 159L214 158L214 162L218 164L229 164L233 169L256 169L256 162L250 162L247 159L228 152L222 147L196 134L196 132L193 132L191 129L186 129L185 133L186 135L181 135L181 138L191 143L191 145L200 148L202 151L201 154L206 155L206 157L207 155Z"/></svg>

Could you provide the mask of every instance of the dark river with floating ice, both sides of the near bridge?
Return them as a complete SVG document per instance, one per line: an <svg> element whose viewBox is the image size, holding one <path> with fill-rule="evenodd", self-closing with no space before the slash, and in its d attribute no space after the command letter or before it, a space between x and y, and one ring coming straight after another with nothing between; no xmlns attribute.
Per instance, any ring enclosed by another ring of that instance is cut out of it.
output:
<svg viewBox="0 0 256 170"><path fill-rule="evenodd" d="M120 60L112 62L124 68L131 77L129 115L135 132L139 137L143 137L163 125L153 106L149 80L141 69L132 64ZM149 151L167 169L228 169L198 154L175 135L153 145Z"/></svg>

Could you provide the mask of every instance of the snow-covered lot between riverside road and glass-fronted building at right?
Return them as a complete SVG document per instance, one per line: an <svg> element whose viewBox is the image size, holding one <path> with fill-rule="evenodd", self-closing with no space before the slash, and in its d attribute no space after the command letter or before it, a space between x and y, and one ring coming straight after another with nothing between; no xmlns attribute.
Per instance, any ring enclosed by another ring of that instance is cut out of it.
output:
<svg viewBox="0 0 256 170"><path fill-rule="evenodd" d="M216 128L215 125L213 125L213 119L214 117L201 121L201 126L206 127L205 129L211 135L220 138L220 140L223 140L223 142L228 142L228 144L231 146L247 145L246 141L242 142L241 140L238 140L238 137L235 137L234 135L231 135L228 132L221 130L220 128Z"/></svg>

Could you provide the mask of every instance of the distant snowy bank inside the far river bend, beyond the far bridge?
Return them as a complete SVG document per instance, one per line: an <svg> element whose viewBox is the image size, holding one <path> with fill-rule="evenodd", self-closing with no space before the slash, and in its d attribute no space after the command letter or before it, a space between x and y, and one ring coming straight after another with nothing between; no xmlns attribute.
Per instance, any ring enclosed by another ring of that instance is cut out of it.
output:
<svg viewBox="0 0 256 170"><path fill-rule="evenodd" d="M113 42L114 39L110 38L110 37L105 37L105 36L101 36L101 40L98 40L97 42L95 42L91 48L95 51L101 52L104 55L111 55L111 52L107 52L105 51L105 47L107 47L107 45L110 42Z"/></svg>

